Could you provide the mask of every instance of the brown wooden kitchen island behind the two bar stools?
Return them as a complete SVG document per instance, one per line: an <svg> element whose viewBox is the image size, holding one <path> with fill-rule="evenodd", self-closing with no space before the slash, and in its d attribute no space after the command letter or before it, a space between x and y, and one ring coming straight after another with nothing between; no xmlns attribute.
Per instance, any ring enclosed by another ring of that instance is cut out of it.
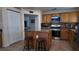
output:
<svg viewBox="0 0 79 59"><path fill-rule="evenodd" d="M25 37L28 35L33 37L32 47L35 48L36 47L36 35L38 35L39 33L42 33L42 35L46 38L46 50L49 50L51 47L51 43L52 43L52 38L51 38L52 36L51 36L50 30L25 31ZM26 45L26 41L25 41L25 45Z"/></svg>

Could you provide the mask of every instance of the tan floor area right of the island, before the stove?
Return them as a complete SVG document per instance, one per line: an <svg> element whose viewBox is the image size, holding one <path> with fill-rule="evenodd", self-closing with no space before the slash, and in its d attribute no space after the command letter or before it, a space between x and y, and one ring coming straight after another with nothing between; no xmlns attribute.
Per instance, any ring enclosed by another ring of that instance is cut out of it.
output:
<svg viewBox="0 0 79 59"><path fill-rule="evenodd" d="M72 47L67 41L52 40L50 51L72 51Z"/></svg>

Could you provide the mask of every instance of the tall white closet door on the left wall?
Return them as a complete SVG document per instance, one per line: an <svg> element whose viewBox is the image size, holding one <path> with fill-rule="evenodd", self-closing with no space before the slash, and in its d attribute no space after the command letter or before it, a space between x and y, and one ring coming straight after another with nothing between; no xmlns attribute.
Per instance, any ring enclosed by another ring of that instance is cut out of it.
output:
<svg viewBox="0 0 79 59"><path fill-rule="evenodd" d="M8 13L8 38L9 44L20 40L20 13L15 11L7 11Z"/></svg>

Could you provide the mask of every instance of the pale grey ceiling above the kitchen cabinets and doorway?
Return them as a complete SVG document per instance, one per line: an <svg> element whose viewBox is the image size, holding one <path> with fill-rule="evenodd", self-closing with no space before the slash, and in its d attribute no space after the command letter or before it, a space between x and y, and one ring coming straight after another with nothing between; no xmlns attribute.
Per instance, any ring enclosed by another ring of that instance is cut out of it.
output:
<svg viewBox="0 0 79 59"><path fill-rule="evenodd" d="M75 9L76 7L24 7L24 9L41 10L43 12Z"/></svg>

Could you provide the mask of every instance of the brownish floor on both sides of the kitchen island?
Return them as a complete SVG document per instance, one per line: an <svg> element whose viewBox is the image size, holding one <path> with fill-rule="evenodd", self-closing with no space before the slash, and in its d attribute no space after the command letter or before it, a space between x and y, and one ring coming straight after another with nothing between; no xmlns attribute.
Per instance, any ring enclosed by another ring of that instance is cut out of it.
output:
<svg viewBox="0 0 79 59"><path fill-rule="evenodd" d="M24 42L19 41L9 47L0 48L0 51L25 51L23 46ZM52 40L52 46L50 48L50 51L73 51L73 49L66 41Z"/></svg>

